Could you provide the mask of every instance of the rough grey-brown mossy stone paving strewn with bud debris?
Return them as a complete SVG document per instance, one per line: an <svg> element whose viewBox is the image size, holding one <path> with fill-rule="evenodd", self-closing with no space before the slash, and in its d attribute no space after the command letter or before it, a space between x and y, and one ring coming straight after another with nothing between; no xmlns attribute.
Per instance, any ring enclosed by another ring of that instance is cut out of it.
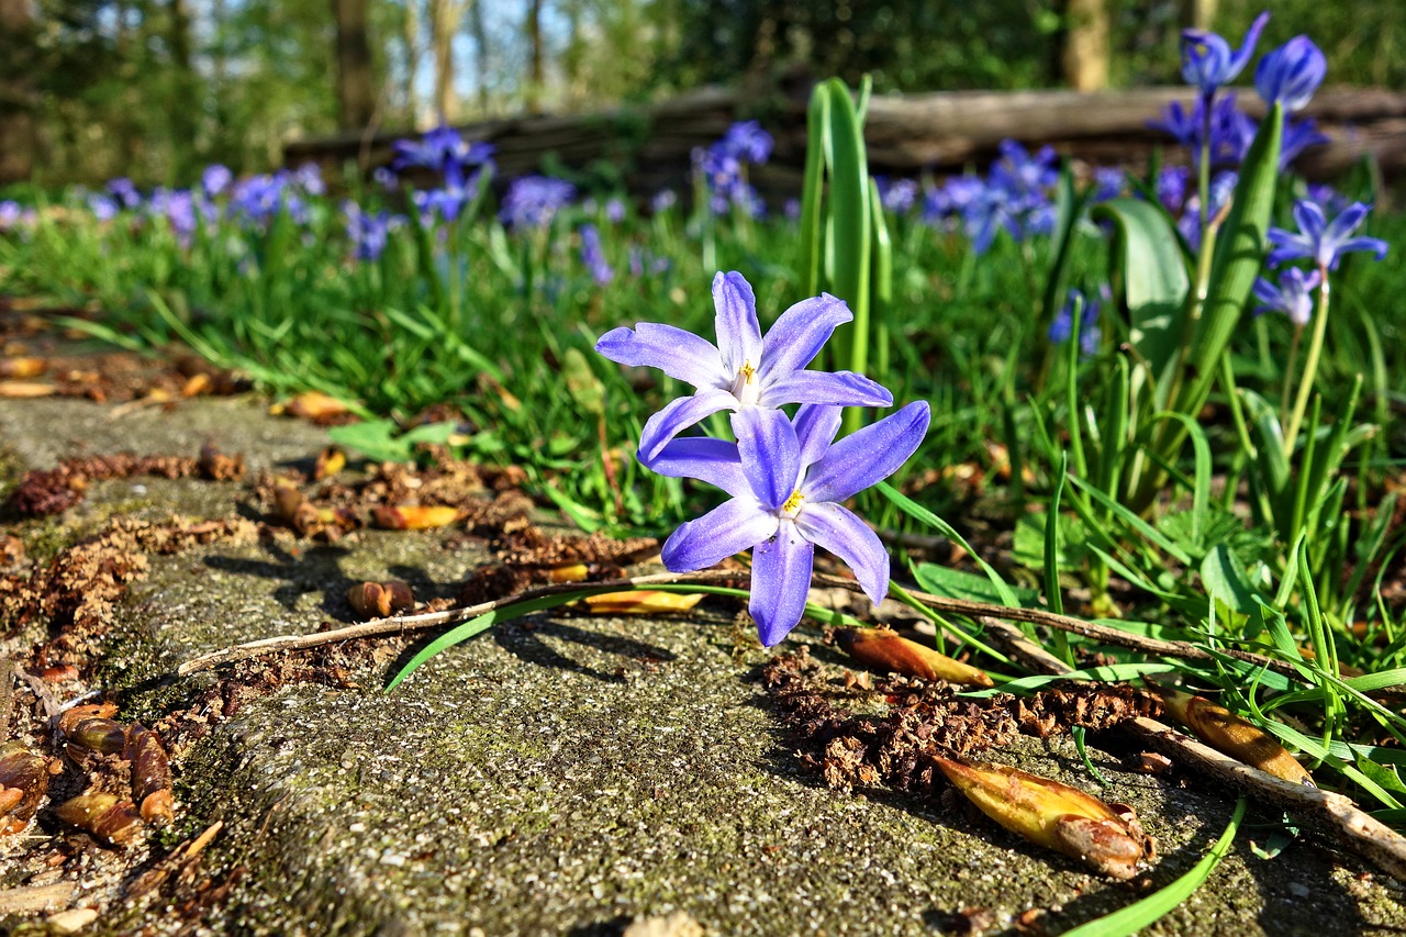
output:
<svg viewBox="0 0 1406 937"><path fill-rule="evenodd" d="M118 449L194 454L207 438L259 468L326 443L323 431L245 400L115 419L77 401L0 402L0 426L11 468ZM94 529L115 509L225 516L235 492L194 480L103 483L48 536ZM42 525L15 526L37 536ZM176 664L316 630L344 615L352 581L394 575L420 598L450 595L485 556L444 540L367 532L333 547L260 542L153 559L110 640L105 688L125 718L155 718L218 680L163 682ZM794 640L838 673L813 630ZM382 692L404 660L368 657L356 687L281 687L180 753L180 836L224 820L211 861L247 869L207 927L616 934L682 912L681 926L692 919L711 934L928 934L988 909L995 933L1035 909L1059 933L1140 896L963 809L837 793L803 772L755 680L765 653L721 602L688 618L508 622ZM1095 748L1109 781L1099 789L1067 739L1024 739L997 757L1136 808L1160 841L1154 886L1204 855L1233 805L1198 778L1181 788L1129 774ZM1249 843L1267 831L1251 824L1275 819L1251 810L1206 886L1144 933L1406 927L1400 885L1350 855L1301 840L1257 858ZM14 855L0 855L10 857L3 872ZM121 909L104 919L117 930L152 920Z"/></svg>

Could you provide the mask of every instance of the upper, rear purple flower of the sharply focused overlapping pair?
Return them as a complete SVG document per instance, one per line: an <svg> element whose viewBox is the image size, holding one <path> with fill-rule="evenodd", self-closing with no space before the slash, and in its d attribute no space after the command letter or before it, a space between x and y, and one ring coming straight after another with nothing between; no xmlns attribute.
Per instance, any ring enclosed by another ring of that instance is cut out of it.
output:
<svg viewBox="0 0 1406 937"><path fill-rule="evenodd" d="M785 404L893 405L893 395L862 374L806 370L835 328L853 318L844 300L828 293L801 300L780 314L765 339L756 297L741 273L713 277L713 305L716 346L659 322L620 326L596 342L596 350L612 362L658 367L697 388L644 425L638 459L647 467L679 432L718 411Z"/></svg>

